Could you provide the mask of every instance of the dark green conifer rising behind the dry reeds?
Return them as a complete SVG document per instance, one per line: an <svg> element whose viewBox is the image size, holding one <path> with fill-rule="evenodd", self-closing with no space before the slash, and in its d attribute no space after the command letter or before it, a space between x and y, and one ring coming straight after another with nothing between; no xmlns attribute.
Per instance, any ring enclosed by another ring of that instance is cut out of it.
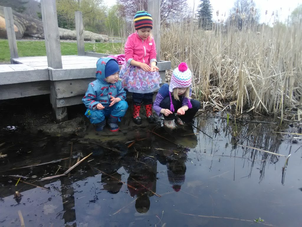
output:
<svg viewBox="0 0 302 227"><path fill-rule="evenodd" d="M203 28L206 30L209 30L212 28L212 5L210 3L210 0L201 0L201 4L198 5L198 26L199 28Z"/></svg>

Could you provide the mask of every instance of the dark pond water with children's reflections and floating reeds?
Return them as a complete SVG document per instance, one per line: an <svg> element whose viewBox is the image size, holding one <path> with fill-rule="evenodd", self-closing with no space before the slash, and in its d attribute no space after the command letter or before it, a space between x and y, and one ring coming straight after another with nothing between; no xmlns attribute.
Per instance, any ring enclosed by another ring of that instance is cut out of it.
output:
<svg viewBox="0 0 302 227"><path fill-rule="evenodd" d="M298 123L208 113L173 131L125 119L118 133L79 123L62 136L3 111L1 227L301 226Z"/></svg>

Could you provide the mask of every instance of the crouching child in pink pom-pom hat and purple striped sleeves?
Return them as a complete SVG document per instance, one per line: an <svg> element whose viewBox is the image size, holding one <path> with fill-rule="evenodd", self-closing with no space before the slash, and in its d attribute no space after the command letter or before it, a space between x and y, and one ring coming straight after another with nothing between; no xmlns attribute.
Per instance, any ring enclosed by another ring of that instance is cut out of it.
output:
<svg viewBox="0 0 302 227"><path fill-rule="evenodd" d="M164 114L164 125L171 129L175 128L176 122L183 125L190 122L200 108L200 102L190 99L192 73L188 65L182 62L173 70L170 85L164 84L159 89L153 104L157 115Z"/></svg>

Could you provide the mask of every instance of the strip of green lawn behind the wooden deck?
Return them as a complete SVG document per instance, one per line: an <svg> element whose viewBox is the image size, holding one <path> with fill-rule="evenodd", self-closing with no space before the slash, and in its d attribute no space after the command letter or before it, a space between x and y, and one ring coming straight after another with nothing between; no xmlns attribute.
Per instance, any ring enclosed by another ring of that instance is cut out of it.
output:
<svg viewBox="0 0 302 227"><path fill-rule="evenodd" d="M44 41L17 41L19 57L46 56ZM120 54L124 50L121 43L85 43L85 51L104 54ZM77 44L61 42L62 55L77 55ZM7 39L0 39L0 62L10 61Z"/></svg>

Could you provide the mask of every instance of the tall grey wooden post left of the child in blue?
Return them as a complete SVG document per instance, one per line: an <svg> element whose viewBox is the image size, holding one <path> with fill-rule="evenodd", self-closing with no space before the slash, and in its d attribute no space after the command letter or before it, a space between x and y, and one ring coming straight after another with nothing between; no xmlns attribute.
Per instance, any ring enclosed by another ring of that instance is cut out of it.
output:
<svg viewBox="0 0 302 227"><path fill-rule="evenodd" d="M62 69L62 56L56 0L41 0L44 39L48 63L48 73L52 69ZM57 122L68 120L67 107L57 107L56 81L50 81L50 102Z"/></svg>

